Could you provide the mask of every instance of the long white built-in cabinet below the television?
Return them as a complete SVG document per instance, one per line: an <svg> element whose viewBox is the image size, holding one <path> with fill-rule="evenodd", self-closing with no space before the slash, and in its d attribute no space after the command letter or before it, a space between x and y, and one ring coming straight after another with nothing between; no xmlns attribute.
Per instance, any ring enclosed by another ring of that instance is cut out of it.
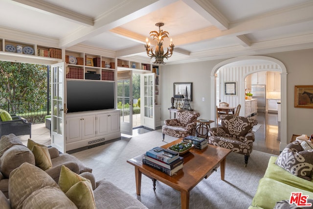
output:
<svg viewBox="0 0 313 209"><path fill-rule="evenodd" d="M66 115L67 150L120 137L119 110Z"/></svg>

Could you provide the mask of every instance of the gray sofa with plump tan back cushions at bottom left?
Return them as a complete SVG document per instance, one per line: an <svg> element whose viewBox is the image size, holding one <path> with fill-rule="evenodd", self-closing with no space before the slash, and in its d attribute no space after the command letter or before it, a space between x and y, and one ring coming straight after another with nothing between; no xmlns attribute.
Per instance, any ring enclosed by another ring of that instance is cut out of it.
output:
<svg viewBox="0 0 313 209"><path fill-rule="evenodd" d="M0 139L0 208L71 209L76 206L58 186L62 165L88 179L98 209L147 209L130 194L105 179L95 181L92 169L69 154L48 149L52 168L35 166L34 155L15 135Z"/></svg>

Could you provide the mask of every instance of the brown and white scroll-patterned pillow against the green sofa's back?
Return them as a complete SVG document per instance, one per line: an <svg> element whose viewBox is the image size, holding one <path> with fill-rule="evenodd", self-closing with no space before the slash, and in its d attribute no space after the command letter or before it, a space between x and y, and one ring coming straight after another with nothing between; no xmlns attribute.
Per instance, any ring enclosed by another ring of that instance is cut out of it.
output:
<svg viewBox="0 0 313 209"><path fill-rule="evenodd" d="M291 174L311 181L313 175L313 150L303 150L299 141L288 144L275 164Z"/></svg>

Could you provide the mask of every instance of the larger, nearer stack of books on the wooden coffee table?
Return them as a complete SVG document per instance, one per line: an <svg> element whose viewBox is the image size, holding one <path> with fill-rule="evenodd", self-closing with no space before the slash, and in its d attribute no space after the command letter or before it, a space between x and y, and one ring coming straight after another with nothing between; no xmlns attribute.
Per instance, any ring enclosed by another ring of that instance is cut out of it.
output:
<svg viewBox="0 0 313 209"><path fill-rule="evenodd" d="M183 157L171 150L155 147L146 152L142 163L173 176L183 167Z"/></svg>

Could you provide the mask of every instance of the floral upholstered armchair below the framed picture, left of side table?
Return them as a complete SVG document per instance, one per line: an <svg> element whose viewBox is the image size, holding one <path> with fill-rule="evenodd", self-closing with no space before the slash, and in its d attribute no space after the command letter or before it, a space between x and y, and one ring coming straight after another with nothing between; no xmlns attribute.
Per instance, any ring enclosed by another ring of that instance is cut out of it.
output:
<svg viewBox="0 0 313 209"><path fill-rule="evenodd" d="M163 141L165 135L176 138L196 135L197 118L200 113L195 111L179 110L177 118L164 120L165 125L162 126Z"/></svg>

